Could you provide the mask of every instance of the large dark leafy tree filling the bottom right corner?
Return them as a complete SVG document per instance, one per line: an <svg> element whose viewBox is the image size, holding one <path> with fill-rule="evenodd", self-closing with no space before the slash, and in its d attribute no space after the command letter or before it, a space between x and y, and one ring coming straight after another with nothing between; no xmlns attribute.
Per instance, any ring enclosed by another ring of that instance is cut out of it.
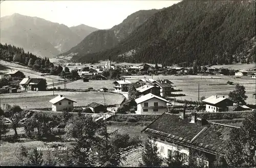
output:
<svg viewBox="0 0 256 168"><path fill-rule="evenodd" d="M255 167L256 111L249 112L241 129L233 128L228 139L225 159L231 167Z"/></svg>

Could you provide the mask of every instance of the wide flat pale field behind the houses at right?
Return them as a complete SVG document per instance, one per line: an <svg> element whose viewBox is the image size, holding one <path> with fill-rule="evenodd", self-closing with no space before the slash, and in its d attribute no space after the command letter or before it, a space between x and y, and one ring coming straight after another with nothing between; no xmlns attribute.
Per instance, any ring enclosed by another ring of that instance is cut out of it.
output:
<svg viewBox="0 0 256 168"><path fill-rule="evenodd" d="M145 76L146 78L152 78ZM136 82L139 79L143 79L144 76L125 76L125 78L131 82ZM176 97L181 100L198 100L198 84L199 84L199 97L210 97L211 95L221 94L228 95L228 93L235 89L235 85L210 85L210 84L225 84L227 81L234 83L240 83L245 86L246 94L248 96L247 103L255 104L255 79L251 78L234 78L230 76L153 76L153 79L169 79L174 82L175 89L181 89L181 92L186 96Z"/></svg>

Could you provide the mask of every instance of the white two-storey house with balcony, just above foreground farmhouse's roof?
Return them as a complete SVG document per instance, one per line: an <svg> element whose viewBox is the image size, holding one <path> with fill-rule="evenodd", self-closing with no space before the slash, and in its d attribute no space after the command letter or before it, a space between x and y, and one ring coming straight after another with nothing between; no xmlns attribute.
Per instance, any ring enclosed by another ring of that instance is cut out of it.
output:
<svg viewBox="0 0 256 168"><path fill-rule="evenodd" d="M167 110L167 100L158 97L152 93L143 95L135 100L137 103L137 114L162 114Z"/></svg>

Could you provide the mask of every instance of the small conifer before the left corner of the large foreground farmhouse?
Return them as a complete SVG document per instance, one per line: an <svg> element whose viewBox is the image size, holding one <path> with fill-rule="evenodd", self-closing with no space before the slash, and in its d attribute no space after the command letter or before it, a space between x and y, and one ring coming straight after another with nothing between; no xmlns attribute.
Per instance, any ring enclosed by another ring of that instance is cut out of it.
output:
<svg viewBox="0 0 256 168"><path fill-rule="evenodd" d="M163 163L163 159L156 145L156 140L151 136L148 136L144 142L142 161L143 163L140 166L145 167L160 167Z"/></svg>

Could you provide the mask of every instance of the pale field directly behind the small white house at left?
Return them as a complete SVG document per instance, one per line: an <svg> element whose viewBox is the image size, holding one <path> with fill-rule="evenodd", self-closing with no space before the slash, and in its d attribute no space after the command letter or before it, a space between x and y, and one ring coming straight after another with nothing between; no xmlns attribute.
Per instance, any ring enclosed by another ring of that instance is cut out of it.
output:
<svg viewBox="0 0 256 168"><path fill-rule="evenodd" d="M27 93L7 93L1 95L1 104L19 105L24 109L32 108L50 108L51 99L55 98L52 95L52 91L38 91L38 92L27 92ZM74 106L86 106L92 102L104 104L102 92L59 92L55 91L55 94L62 94L63 97L69 98L76 101ZM120 94L104 92L105 103L120 104L123 101L123 97Z"/></svg>

